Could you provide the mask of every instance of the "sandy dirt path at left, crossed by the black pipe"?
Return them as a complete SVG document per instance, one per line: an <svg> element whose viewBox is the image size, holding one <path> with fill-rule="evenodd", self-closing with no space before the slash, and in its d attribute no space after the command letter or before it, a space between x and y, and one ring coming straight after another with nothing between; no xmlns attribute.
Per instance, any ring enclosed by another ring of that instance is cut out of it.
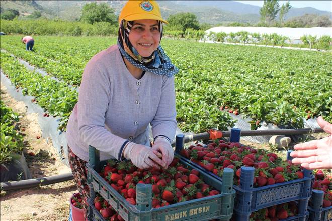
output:
<svg viewBox="0 0 332 221"><path fill-rule="evenodd" d="M50 139L39 138L41 130L38 114L27 114L23 102L13 99L6 87L1 85L1 99L19 113L24 130L24 156L33 178L68 173L70 169L62 163ZM35 155L30 156L28 152ZM0 219L5 220L68 220L69 197L77 192L73 180L26 190L7 191L0 198Z"/></svg>

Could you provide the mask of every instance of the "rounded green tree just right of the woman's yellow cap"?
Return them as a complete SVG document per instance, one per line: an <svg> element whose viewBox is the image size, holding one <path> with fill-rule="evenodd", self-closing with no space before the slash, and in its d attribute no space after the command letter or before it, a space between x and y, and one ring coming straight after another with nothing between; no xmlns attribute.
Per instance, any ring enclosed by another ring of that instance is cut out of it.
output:
<svg viewBox="0 0 332 221"><path fill-rule="evenodd" d="M188 28L192 28L195 30L199 30L200 28L196 15L189 12L182 12L170 15L170 17L168 18L168 22L171 26L181 27L183 33L185 33L186 29Z"/></svg>

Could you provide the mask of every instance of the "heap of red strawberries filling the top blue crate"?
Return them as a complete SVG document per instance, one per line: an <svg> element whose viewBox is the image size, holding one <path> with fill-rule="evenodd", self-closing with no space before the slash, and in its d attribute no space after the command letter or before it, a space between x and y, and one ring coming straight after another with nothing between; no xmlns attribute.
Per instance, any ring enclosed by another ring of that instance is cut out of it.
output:
<svg viewBox="0 0 332 221"><path fill-rule="evenodd" d="M255 187L303 178L300 166L292 164L291 161L284 161L275 153L238 142L219 140L209 143L207 148L200 144L191 145L188 149L182 149L180 154L220 177L224 168L233 169L236 174L234 184L237 185L241 166L255 167Z"/></svg>

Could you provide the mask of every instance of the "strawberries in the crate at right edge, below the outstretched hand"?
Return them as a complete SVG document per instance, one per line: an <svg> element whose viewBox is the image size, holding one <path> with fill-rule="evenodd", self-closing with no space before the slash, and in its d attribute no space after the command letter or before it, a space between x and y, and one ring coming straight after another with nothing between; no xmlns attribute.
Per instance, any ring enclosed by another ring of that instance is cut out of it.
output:
<svg viewBox="0 0 332 221"><path fill-rule="evenodd" d="M324 208L332 205L332 176L324 174L322 170L317 170L312 188L324 191Z"/></svg>

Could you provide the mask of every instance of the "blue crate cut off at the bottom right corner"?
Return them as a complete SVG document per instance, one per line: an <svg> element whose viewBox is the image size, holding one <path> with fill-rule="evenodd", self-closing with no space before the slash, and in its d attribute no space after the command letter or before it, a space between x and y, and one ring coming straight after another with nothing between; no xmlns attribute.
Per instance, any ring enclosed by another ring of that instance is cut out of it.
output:
<svg viewBox="0 0 332 221"><path fill-rule="evenodd" d="M330 221L332 220L332 206L323 208L324 192L321 190L312 190L309 201L309 221Z"/></svg>

